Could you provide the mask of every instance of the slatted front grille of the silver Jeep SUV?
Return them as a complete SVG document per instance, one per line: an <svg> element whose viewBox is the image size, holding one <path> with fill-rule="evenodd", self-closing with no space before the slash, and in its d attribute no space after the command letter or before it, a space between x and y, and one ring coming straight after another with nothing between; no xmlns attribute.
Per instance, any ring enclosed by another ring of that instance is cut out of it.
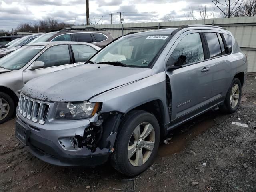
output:
<svg viewBox="0 0 256 192"><path fill-rule="evenodd" d="M22 93L20 94L18 112L23 118L26 118L29 121L32 120L34 123L44 124L46 122L49 109L50 104L36 101L26 97Z"/></svg>

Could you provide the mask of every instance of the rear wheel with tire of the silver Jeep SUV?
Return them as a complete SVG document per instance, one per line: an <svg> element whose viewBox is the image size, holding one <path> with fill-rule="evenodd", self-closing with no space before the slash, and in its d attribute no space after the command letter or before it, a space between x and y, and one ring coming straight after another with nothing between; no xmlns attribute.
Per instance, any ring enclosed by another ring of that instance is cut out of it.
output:
<svg viewBox="0 0 256 192"><path fill-rule="evenodd" d="M234 91L234 86L236 86L236 88L237 88L237 89L235 89L235 91ZM228 113L228 114L234 113L239 107L240 100L241 100L241 95L242 95L241 82L238 78L234 78L232 83L231 83L231 86L228 89L228 92L226 94L224 104L222 106L220 106L220 109L224 113Z"/></svg>

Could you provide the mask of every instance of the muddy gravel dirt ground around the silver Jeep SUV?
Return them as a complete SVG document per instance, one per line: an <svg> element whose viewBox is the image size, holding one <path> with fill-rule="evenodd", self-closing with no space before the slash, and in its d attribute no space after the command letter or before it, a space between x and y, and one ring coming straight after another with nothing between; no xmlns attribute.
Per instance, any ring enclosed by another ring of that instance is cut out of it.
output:
<svg viewBox="0 0 256 192"><path fill-rule="evenodd" d="M136 192L256 192L256 79L247 77L242 92L234 114L208 112L174 130L169 144L160 145L154 164L134 178L109 163L94 168L44 163L18 144L13 118L0 125L0 191L112 192L135 187Z"/></svg>

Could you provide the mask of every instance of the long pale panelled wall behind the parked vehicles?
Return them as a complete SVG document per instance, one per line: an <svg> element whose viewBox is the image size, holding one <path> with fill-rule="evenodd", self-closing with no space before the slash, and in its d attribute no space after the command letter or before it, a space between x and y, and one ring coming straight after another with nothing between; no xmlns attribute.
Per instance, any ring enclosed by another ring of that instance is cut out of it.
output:
<svg viewBox="0 0 256 192"><path fill-rule="evenodd" d="M163 28L175 28L188 24L214 24L232 32L242 52L248 56L248 72L256 74L256 17L218 18L190 21L173 22L150 22L150 23L124 23L112 25L97 25L96 28L104 28L111 32L114 38L129 32L148 31ZM92 26L77 26L92 27Z"/></svg>

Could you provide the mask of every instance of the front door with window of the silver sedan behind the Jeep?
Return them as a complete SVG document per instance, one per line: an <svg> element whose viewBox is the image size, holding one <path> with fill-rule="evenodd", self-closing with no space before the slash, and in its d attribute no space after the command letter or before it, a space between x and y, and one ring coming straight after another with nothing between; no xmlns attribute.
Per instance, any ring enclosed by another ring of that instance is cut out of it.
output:
<svg viewBox="0 0 256 192"><path fill-rule="evenodd" d="M32 70L30 65L23 71L23 85L29 80L43 74L73 67L74 64L70 57L70 52L71 50L68 45L56 45L45 50L38 58L35 59L35 61L44 62L44 68Z"/></svg>

